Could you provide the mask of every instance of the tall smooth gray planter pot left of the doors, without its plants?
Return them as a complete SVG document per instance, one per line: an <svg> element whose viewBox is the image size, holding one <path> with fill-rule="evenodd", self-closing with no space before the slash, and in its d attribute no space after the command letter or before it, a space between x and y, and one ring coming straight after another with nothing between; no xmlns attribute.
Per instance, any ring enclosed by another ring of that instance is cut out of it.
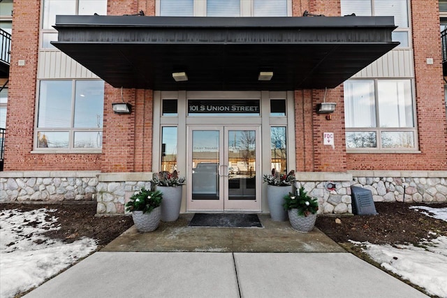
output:
<svg viewBox="0 0 447 298"><path fill-rule="evenodd" d="M182 206L182 186L157 186L163 193L161 200L161 221L177 221Z"/></svg>

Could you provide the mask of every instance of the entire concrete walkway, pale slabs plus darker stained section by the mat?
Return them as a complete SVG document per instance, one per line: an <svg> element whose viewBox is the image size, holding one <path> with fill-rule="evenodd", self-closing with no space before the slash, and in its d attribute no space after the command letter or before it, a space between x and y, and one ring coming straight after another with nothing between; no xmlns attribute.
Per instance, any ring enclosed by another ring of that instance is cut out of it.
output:
<svg viewBox="0 0 447 298"><path fill-rule="evenodd" d="M318 229L191 228L191 214L155 232L131 228L24 297L427 297Z"/></svg>

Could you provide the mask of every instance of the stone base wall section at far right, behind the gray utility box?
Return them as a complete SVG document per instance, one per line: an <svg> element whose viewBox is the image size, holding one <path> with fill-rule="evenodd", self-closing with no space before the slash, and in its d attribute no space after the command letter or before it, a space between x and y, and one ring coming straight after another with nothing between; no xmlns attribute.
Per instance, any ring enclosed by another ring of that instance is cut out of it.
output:
<svg viewBox="0 0 447 298"><path fill-rule="evenodd" d="M369 189L374 202L447 202L447 171L351 171L351 174L352 185Z"/></svg>

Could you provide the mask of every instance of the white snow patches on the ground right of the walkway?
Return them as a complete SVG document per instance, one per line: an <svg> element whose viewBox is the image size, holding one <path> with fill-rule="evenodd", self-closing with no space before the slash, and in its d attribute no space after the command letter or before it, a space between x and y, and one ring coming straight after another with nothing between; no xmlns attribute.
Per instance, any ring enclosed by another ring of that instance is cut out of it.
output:
<svg viewBox="0 0 447 298"><path fill-rule="evenodd" d="M447 208L411 207L422 214L447 221ZM427 211L427 212L426 212ZM434 214L434 215L432 215ZM434 234L434 233L433 233ZM425 240L416 247L412 244L376 245L353 242L384 269L425 288L430 295L447 298L447 237Z"/></svg>

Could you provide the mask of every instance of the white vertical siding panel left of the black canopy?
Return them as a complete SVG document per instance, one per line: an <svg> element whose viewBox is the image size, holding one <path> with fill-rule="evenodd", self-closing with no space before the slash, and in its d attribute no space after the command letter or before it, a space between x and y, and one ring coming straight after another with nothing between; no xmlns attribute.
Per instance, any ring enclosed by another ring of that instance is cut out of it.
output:
<svg viewBox="0 0 447 298"><path fill-rule="evenodd" d="M41 51L38 61L38 79L92 79L98 78L84 66L60 51Z"/></svg>

